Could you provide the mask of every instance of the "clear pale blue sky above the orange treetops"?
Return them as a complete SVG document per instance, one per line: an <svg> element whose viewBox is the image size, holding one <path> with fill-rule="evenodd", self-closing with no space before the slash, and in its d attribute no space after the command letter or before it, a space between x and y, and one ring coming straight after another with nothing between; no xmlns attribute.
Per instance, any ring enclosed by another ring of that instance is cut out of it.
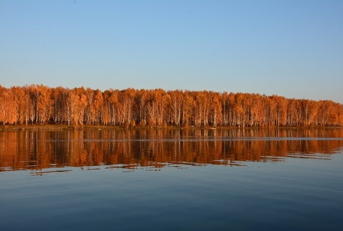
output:
<svg viewBox="0 0 343 231"><path fill-rule="evenodd" d="M343 103L343 0L0 0L0 84Z"/></svg>

